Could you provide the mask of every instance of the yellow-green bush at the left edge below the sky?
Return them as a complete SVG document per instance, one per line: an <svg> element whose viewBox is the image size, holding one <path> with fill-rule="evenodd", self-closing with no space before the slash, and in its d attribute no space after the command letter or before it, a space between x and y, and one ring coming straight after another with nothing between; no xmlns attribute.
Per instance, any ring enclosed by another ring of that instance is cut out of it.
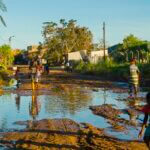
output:
<svg viewBox="0 0 150 150"><path fill-rule="evenodd" d="M0 46L0 66L10 66L13 63L14 56L9 45Z"/></svg>

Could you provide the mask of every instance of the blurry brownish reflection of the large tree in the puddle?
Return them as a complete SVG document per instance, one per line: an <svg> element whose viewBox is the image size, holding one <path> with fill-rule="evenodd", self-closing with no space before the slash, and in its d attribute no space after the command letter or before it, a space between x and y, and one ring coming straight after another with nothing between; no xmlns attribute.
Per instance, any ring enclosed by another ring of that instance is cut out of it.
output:
<svg viewBox="0 0 150 150"><path fill-rule="evenodd" d="M53 89L53 99L46 97L45 109L48 113L61 112L74 115L82 108L90 105L91 91L85 91L82 87L60 85Z"/></svg>

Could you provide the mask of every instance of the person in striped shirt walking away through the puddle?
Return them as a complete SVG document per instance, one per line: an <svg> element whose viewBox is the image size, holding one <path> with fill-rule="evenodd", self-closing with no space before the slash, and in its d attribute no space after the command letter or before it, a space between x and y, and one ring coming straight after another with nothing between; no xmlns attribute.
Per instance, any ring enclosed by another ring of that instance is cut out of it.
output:
<svg viewBox="0 0 150 150"><path fill-rule="evenodd" d="M136 66L136 59L133 58L130 62L130 78L129 78L130 98L132 98L133 93L134 93L134 98L137 98L137 94L139 91L139 76L140 76L140 71Z"/></svg>

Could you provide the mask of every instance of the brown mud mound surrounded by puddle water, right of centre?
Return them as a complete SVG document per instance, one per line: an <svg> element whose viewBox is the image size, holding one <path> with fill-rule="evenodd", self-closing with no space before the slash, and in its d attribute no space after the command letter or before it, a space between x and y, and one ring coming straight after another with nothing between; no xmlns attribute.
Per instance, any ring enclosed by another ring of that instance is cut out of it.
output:
<svg viewBox="0 0 150 150"><path fill-rule="evenodd" d="M134 109L127 108L124 110L118 110L113 108L110 104L90 106L90 109L95 115L106 118L108 120L107 122L111 124L115 131L122 132L127 129L126 126L137 126L137 124L132 121L132 118L138 115L138 112ZM128 114L130 116L130 120L121 118L119 116L121 113Z"/></svg>

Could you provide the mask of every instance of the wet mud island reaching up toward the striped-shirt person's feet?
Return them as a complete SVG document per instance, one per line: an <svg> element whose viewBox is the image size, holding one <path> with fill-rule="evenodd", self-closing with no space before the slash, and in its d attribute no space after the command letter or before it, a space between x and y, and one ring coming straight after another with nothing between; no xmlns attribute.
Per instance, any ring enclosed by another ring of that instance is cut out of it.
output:
<svg viewBox="0 0 150 150"><path fill-rule="evenodd" d="M140 123L136 122L136 118L140 115L140 110L143 105L135 105L137 102L143 100L142 98L138 101L136 100L126 100L128 103L128 108L117 109L111 104L103 104L99 106L90 106L89 109L93 114L102 116L107 119L107 122L111 125L111 128L117 132L123 132L128 130L129 126L137 128L141 126ZM121 117L121 114L128 114L129 119Z"/></svg>

